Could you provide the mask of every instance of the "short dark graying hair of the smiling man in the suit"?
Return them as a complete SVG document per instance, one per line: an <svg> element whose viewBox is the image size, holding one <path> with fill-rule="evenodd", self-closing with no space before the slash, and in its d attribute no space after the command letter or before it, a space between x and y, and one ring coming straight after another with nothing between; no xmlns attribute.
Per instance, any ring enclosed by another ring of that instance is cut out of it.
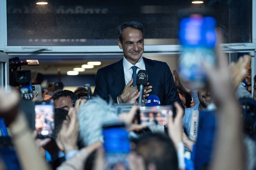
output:
<svg viewBox="0 0 256 170"><path fill-rule="evenodd" d="M128 27L140 30L142 32L142 36L143 36L143 39L144 39L144 27L143 27L143 25L138 21L130 21L130 22L122 23L117 27L117 36L118 36L118 39L121 41L121 43L123 41L123 31L124 31L124 29L126 29Z"/></svg>

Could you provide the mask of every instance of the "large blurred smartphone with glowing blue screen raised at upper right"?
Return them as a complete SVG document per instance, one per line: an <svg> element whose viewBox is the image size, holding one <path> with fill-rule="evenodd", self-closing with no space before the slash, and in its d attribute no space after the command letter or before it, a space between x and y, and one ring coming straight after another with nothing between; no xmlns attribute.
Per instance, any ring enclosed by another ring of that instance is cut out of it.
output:
<svg viewBox="0 0 256 170"><path fill-rule="evenodd" d="M188 88L205 87L207 75L202 62L215 66L216 20L212 16L190 14L180 19L179 75Z"/></svg>

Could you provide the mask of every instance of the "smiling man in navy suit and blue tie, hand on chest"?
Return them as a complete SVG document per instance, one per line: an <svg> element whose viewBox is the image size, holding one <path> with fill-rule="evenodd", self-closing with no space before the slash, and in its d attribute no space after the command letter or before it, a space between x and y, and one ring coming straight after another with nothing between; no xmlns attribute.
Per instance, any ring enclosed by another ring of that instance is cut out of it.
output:
<svg viewBox="0 0 256 170"><path fill-rule="evenodd" d="M139 70L147 70L148 83L143 98L149 95L159 97L161 105L182 105L169 66L160 61L142 57L144 52L144 28L137 21L126 22L117 29L118 45L124 57L117 63L103 67L96 75L94 94L103 99L112 97L114 102L133 103L140 96L136 85ZM135 81L133 81L135 80Z"/></svg>

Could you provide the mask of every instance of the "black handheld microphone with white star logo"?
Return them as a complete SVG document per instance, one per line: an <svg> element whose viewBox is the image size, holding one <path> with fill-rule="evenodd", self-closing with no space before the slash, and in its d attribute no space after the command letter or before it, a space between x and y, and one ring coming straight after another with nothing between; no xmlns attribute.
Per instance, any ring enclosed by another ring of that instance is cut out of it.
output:
<svg viewBox="0 0 256 170"><path fill-rule="evenodd" d="M137 73L137 78L136 78L136 84L138 86L138 92L140 92L140 97L138 98L138 103L141 103L143 99L143 94L144 94L144 88L147 85L147 71L146 70L139 70Z"/></svg>

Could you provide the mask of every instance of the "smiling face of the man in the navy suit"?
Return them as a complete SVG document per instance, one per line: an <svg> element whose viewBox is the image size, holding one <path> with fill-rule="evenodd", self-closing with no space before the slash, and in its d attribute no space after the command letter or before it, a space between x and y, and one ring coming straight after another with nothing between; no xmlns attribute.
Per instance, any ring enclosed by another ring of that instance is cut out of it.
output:
<svg viewBox="0 0 256 170"><path fill-rule="evenodd" d="M125 28L122 34L123 41L118 39L120 49L123 49L127 61L135 65L144 52L144 39L142 32L133 28Z"/></svg>

